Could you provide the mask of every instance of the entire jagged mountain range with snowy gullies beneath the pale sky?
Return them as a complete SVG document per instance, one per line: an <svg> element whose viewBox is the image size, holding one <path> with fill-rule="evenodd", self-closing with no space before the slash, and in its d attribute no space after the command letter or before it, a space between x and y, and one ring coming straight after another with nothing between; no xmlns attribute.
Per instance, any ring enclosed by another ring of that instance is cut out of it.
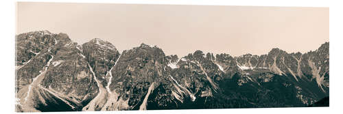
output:
<svg viewBox="0 0 343 114"><path fill-rule="evenodd" d="M316 51L166 56L141 44L16 35L16 111L117 111L307 106L329 96L329 42Z"/></svg>

